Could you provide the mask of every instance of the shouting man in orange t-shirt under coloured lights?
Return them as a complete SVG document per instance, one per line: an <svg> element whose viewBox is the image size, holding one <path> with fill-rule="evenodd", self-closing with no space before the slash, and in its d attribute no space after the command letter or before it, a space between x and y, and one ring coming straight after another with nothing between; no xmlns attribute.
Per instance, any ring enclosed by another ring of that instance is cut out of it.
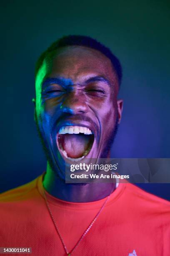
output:
<svg viewBox="0 0 170 256"><path fill-rule="evenodd" d="M119 60L90 37L63 37L40 56L33 101L47 169L1 195L1 247L40 256L169 255L168 201L130 183L65 183L68 163L110 157L121 78Z"/></svg>

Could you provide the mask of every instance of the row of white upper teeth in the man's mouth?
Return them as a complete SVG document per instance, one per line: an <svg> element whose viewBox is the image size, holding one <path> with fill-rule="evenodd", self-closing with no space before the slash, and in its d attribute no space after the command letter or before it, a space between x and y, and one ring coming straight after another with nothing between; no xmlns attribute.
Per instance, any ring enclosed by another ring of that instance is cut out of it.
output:
<svg viewBox="0 0 170 256"><path fill-rule="evenodd" d="M70 133L70 134L79 134L79 133L84 133L84 134L92 134L92 131L89 128L82 127L82 126L62 126L60 128L60 131L58 132L59 134L65 134L65 133Z"/></svg>

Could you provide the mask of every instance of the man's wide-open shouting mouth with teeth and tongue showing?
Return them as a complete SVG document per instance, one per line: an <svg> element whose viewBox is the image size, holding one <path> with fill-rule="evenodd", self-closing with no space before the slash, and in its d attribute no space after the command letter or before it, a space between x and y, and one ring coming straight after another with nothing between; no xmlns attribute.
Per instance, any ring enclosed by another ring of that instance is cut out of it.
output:
<svg viewBox="0 0 170 256"><path fill-rule="evenodd" d="M87 127L62 126L57 134L57 146L66 158L80 161L90 152L94 138Z"/></svg>

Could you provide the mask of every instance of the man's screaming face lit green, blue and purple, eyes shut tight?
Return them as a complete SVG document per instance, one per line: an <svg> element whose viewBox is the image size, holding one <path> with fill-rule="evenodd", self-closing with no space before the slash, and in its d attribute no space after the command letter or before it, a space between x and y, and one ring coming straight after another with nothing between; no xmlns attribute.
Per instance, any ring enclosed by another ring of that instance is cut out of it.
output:
<svg viewBox="0 0 170 256"><path fill-rule="evenodd" d="M110 59L82 46L46 57L36 77L35 117L52 169L65 179L65 164L108 157L120 122L118 79Z"/></svg>

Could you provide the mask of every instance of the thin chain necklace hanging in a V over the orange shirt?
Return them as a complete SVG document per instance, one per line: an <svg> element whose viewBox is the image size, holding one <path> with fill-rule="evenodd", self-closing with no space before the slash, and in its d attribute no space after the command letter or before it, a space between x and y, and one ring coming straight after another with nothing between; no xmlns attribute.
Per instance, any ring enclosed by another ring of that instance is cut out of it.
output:
<svg viewBox="0 0 170 256"><path fill-rule="evenodd" d="M43 186L42 186L42 187L43 187ZM115 188L115 187L114 187L114 188ZM103 203L102 207L100 208L100 210L99 210L99 211L97 212L97 214L95 215L95 218L92 220L92 222L90 223L90 225L88 226L88 228L85 230L85 232L82 234L82 236L80 237L80 239L78 240L78 242L75 244L75 246L72 248L72 250L71 250L70 252L67 250L67 247L66 247L66 245L65 245L65 243L64 243L64 240L63 240L63 238L62 238L62 236L61 236L61 234L60 234L60 231L59 231L59 229L58 229L58 227L57 227L57 224L56 224L56 222L55 222L55 219L54 219L54 217L53 217L53 215L52 215L52 211L51 211L51 209L50 209L50 205L49 205L49 203L48 203L48 201L47 201L47 197L46 197L46 195L45 195L45 189L44 189L44 187L43 187L42 190L43 190L44 199L45 199L45 202L46 202L46 205L47 205L47 209L48 209L48 211L49 211L49 213L50 213L52 222L53 222L54 225L55 225L55 229L57 230L58 236L60 237L60 240L61 240L61 242L62 242L62 245L63 245L63 247L64 247L64 249L65 249L65 252L66 252L66 254L67 254L68 256L71 256L72 253L73 253L73 251L75 251L75 249L77 248L77 246L79 245L79 243L82 241L82 239L85 237L85 235L89 232L90 228L92 227L92 225L95 223L95 221L96 221L97 218L99 217L101 211L102 211L103 208L105 207L105 204L107 203L107 201L108 201L108 199L109 199L109 197L110 197L110 195L111 195L111 193L113 192L114 189L113 189L113 190L110 192L110 194L107 196L107 198L106 198L105 202Z"/></svg>

